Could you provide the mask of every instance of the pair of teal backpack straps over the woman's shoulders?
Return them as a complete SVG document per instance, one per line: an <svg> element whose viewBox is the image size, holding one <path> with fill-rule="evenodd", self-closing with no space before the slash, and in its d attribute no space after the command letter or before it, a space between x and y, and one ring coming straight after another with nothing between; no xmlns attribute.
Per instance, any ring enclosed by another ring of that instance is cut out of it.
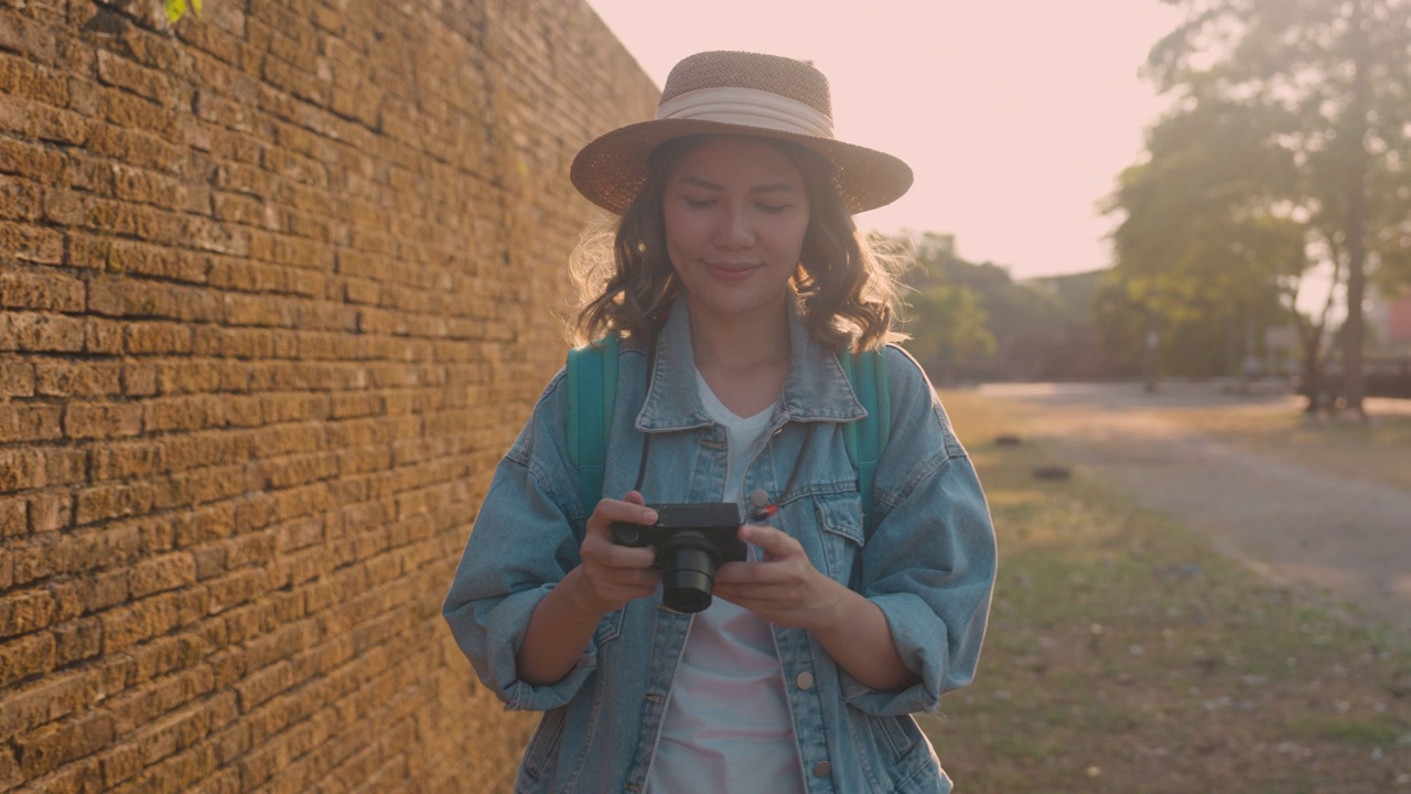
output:
<svg viewBox="0 0 1411 794"><path fill-rule="evenodd" d="M569 350L569 462L579 469L579 503L584 514L602 499L608 428L617 405L618 338L614 335ZM872 485L878 461L892 432L892 400L886 381L885 350L838 353L838 363L868 415L842 427L848 461L858 472L862 523L872 511Z"/></svg>

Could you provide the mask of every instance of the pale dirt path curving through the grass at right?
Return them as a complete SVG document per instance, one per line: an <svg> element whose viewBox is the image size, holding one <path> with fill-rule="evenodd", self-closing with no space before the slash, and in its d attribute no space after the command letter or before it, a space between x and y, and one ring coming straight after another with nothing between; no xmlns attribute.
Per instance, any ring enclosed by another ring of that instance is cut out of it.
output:
<svg viewBox="0 0 1411 794"><path fill-rule="evenodd" d="M1191 434L1151 408L1229 404L1211 386L996 384L1030 429L1139 504L1206 533L1216 548L1291 585L1325 589L1411 633L1411 492L1319 476Z"/></svg>

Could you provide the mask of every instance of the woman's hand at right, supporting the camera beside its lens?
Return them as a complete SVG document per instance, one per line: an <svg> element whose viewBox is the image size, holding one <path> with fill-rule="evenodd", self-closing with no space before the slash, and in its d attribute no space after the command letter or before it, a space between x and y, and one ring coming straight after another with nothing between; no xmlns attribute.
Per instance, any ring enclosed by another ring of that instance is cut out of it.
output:
<svg viewBox="0 0 1411 794"><path fill-rule="evenodd" d="M745 524L739 540L758 545L763 561L721 565L715 595L776 626L827 632L845 596L855 595L814 568L803 545L775 527Z"/></svg>

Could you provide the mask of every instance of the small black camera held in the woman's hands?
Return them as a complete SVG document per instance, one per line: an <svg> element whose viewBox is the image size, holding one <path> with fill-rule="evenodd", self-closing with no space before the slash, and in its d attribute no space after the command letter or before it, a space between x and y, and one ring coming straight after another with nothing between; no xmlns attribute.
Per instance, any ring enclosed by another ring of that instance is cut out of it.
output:
<svg viewBox="0 0 1411 794"><path fill-rule="evenodd" d="M738 504L691 503L648 504L656 523L612 523L612 543L655 545L662 569L662 602L676 612L700 612L710 606L715 569L722 562L742 562L745 544L738 537L745 523Z"/></svg>

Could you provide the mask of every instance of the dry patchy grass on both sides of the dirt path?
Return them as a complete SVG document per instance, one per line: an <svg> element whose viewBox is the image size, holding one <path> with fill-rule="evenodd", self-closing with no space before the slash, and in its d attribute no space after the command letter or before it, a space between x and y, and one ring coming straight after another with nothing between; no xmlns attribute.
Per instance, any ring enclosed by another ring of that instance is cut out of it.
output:
<svg viewBox="0 0 1411 794"><path fill-rule="evenodd" d="M1000 544L979 675L923 719L958 791L1411 793L1405 637L1266 583L1081 468L1036 479L1067 463L993 442L1031 437L1017 410L972 391L943 400ZM1187 420L1256 448L1366 444L1273 413Z"/></svg>

